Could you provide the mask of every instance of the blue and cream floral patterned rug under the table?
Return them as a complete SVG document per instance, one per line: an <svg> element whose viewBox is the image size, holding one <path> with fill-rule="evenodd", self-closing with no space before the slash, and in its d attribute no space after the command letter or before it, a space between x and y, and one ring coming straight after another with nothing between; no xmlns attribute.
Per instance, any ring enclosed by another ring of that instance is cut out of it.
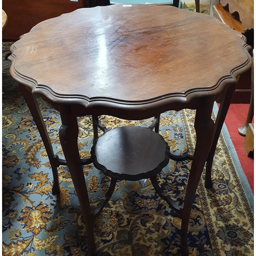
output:
<svg viewBox="0 0 256 256"><path fill-rule="evenodd" d="M3 255L87 255L87 233L76 191L66 166L59 167L60 195L52 195L52 172L44 144L18 84L5 59L3 43ZM54 153L63 155L58 140L59 113L38 98ZM160 133L174 154L193 153L195 111L161 115ZM101 116L108 127L148 126L151 120L129 121ZM215 113L212 113L215 119ZM81 157L90 155L90 117L78 119ZM63 157L63 156L62 156ZM165 192L182 203L190 161L169 164L159 175ZM92 206L110 184L92 164L84 166ZM213 165L212 189L198 186L190 216L190 255L253 255L253 213L237 167L221 134ZM180 219L159 198L150 180L119 181L113 197L94 225L97 255L179 255Z"/></svg>

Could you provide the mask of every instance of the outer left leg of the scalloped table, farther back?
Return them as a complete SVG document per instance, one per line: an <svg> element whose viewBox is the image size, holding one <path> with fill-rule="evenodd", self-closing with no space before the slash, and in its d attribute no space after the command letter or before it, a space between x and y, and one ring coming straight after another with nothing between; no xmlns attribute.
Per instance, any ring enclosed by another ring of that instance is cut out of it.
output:
<svg viewBox="0 0 256 256"><path fill-rule="evenodd" d="M27 102L31 115L34 118L37 129L42 138L42 141L44 142L46 152L52 167L52 173L53 173L52 194L54 195L59 194L60 189L59 189L58 169L57 169L57 166L55 165L53 148L52 148L52 144L46 129L44 119L42 119L42 115L41 115L35 96L30 91L28 91L28 89L23 84L19 84L19 87Z"/></svg>

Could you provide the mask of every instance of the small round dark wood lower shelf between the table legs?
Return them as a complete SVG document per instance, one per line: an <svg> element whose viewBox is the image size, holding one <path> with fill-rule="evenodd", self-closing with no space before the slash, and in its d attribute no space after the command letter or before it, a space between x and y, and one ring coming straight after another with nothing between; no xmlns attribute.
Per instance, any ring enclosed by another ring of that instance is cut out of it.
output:
<svg viewBox="0 0 256 256"><path fill-rule="evenodd" d="M119 180L147 179L169 162L169 147L163 137L145 127L123 126L95 140L93 163L106 176Z"/></svg>

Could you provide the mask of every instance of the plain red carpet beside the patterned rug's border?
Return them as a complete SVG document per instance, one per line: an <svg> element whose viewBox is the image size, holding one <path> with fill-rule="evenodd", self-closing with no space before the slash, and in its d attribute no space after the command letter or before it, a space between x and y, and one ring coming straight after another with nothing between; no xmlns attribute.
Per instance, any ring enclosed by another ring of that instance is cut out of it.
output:
<svg viewBox="0 0 256 256"><path fill-rule="evenodd" d="M242 126L246 120L249 104L231 104L228 110L225 124L231 137L232 143L236 148L240 163L253 191L254 186L254 161L249 158L244 150L244 138L238 133L238 128ZM253 122L253 121L252 121Z"/></svg>

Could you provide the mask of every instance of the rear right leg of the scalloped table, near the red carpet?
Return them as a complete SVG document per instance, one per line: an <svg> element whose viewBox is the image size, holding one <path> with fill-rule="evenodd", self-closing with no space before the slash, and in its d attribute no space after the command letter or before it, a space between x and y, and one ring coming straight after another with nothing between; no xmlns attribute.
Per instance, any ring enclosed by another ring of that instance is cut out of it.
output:
<svg viewBox="0 0 256 256"><path fill-rule="evenodd" d="M220 102L220 108L218 111L218 115L215 121L215 134L214 134L214 140L212 141L212 145L210 148L210 152L207 158L206 162L206 173L205 173L205 187L211 188L212 187L212 180L211 180L211 168L212 163L214 161L214 155L216 146L219 140L219 136L221 133L221 129L225 120L225 117L227 115L230 102L232 100L234 90L236 89L236 84L231 84L227 91L225 92L225 95L222 95L221 102Z"/></svg>

